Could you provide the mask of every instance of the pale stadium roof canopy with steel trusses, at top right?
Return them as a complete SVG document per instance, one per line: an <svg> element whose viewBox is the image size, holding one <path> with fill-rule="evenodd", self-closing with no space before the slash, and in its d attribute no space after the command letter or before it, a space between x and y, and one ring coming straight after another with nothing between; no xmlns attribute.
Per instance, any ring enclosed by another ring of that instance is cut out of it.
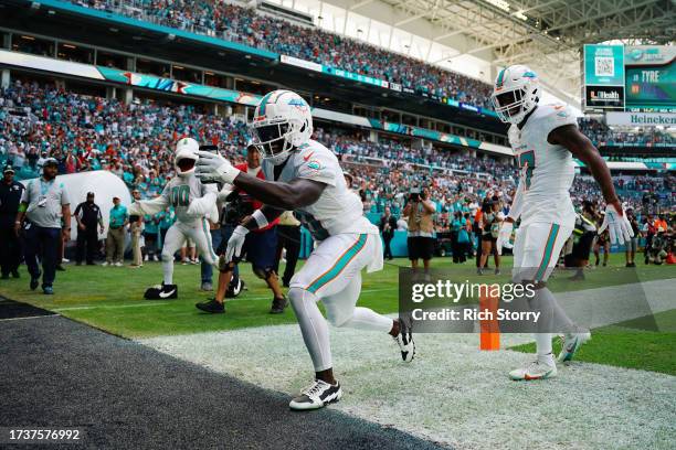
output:
<svg viewBox="0 0 676 450"><path fill-rule="evenodd" d="M472 55L490 64L492 76L499 66L531 65L548 90L578 105L583 44L610 40L666 44L676 35L672 0L293 0L293 8L299 3L319 18L324 4L344 9L345 18L350 18L341 21L344 33L347 23L360 15L369 18L368 26L373 20L423 38L430 49L418 56L431 63ZM358 36L372 42L370 35L367 30ZM385 46L392 47L391 35ZM430 57L433 45L447 51L441 58Z"/></svg>

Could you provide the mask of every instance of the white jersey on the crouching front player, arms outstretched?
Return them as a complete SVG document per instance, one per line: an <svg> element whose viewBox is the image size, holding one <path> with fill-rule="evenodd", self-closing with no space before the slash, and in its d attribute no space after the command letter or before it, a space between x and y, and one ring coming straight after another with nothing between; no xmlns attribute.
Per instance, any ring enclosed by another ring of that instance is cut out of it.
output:
<svg viewBox="0 0 676 450"><path fill-rule="evenodd" d="M363 216L359 195L348 189L338 159L321 143L309 140L292 151L281 165L282 171L275 178L275 165L263 160L265 179L287 183L306 179L326 184L315 203L294 211L313 238L324 240L342 233L379 233L378 227Z"/></svg>

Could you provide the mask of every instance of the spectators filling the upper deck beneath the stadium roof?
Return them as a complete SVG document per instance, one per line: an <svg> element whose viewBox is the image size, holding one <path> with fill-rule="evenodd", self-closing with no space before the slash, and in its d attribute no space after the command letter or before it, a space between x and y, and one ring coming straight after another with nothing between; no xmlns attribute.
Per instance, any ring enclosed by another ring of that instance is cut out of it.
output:
<svg viewBox="0 0 676 450"><path fill-rule="evenodd" d="M492 108L489 84L363 41L264 15L253 8L213 0L74 0L73 3L372 76L418 94Z"/></svg>

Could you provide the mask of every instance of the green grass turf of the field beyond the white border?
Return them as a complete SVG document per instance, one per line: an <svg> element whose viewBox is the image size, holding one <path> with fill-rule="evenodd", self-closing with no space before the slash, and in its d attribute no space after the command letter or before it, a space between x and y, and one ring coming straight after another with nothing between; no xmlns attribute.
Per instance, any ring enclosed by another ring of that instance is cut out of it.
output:
<svg viewBox="0 0 676 450"><path fill-rule="evenodd" d="M360 304L382 313L397 312L398 270L399 266L406 264L405 259L395 259L393 264L387 264L384 270L365 275ZM447 268L454 277L471 282L506 282L509 270L505 268L510 266L511 258L505 257L501 276L478 277L474 261L453 265L450 258L433 260L433 267ZM247 265L242 267L241 272L249 290L226 303L225 314L215 315L201 313L193 306L197 301L212 296L211 292L199 290L199 266L176 266L175 282L179 286L179 299L168 301L142 299L145 289L161 280L159 262L147 262L141 269L74 265L66 268L67 271L57 272L54 283L56 293L52 297L42 294L40 289L29 290L24 268L20 280L0 281L0 294L57 311L62 315L133 339L295 322L291 308L279 315L267 313L272 296ZM563 282L568 276L558 272L550 280L552 291L571 289L570 282ZM640 265L636 269L627 269L624 267L623 255L613 255L609 267L587 271L587 280L575 283L572 289L674 278L674 266ZM661 330L670 332L624 330L620 325L598 329L593 333L594 339L580 352L580 360L676 374L676 312L657 314L657 318L661 321ZM517 350L530 352L532 347L525 345Z"/></svg>

